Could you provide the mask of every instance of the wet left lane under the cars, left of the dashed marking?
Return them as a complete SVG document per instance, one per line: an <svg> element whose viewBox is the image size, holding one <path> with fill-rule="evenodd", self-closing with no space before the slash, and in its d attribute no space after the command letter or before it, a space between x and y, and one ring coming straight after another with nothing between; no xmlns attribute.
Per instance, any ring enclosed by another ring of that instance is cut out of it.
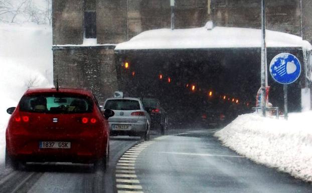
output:
<svg viewBox="0 0 312 193"><path fill-rule="evenodd" d="M117 137L110 140L110 157L105 173L93 171L92 164L32 164L26 171L12 171L0 165L0 192L114 192L116 160L139 138Z"/></svg>

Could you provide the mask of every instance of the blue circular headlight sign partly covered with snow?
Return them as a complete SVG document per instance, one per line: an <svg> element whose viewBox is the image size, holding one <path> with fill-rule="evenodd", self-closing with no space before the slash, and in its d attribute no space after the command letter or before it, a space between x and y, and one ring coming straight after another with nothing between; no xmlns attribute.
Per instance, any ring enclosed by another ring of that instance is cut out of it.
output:
<svg viewBox="0 0 312 193"><path fill-rule="evenodd" d="M272 59L269 70L276 82L291 84L299 78L301 65L294 55L281 53Z"/></svg>

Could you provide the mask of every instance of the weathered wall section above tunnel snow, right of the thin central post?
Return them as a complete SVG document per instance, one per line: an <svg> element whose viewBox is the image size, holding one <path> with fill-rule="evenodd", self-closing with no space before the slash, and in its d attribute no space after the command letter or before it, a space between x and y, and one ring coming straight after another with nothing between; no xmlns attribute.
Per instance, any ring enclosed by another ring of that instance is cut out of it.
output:
<svg viewBox="0 0 312 193"><path fill-rule="evenodd" d="M300 1L267 0L266 28L301 36ZM261 28L261 1L215 0L211 2L216 26Z"/></svg>

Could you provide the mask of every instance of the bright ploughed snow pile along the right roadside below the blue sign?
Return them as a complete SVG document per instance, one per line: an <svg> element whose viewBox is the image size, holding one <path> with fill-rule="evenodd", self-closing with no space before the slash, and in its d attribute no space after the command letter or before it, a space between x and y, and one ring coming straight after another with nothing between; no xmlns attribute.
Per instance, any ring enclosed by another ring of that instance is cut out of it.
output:
<svg viewBox="0 0 312 193"><path fill-rule="evenodd" d="M244 114L215 133L224 145L251 160L312 181L312 111L288 121Z"/></svg>

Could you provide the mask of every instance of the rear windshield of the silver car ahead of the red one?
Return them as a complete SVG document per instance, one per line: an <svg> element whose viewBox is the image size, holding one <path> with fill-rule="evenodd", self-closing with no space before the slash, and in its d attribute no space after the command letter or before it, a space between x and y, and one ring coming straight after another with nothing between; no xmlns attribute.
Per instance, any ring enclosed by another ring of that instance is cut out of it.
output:
<svg viewBox="0 0 312 193"><path fill-rule="evenodd" d="M140 110L140 105L137 100L108 100L105 103L104 109Z"/></svg>

